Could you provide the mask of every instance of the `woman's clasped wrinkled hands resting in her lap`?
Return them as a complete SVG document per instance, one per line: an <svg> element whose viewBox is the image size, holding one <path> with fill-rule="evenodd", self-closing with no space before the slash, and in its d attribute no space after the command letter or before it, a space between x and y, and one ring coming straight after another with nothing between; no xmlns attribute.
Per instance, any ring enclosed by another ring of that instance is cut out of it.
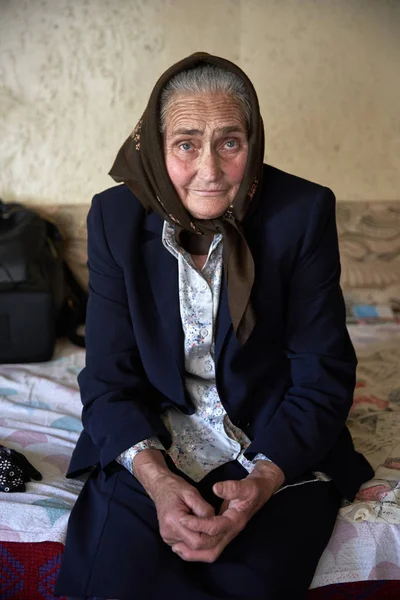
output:
<svg viewBox="0 0 400 600"><path fill-rule="evenodd" d="M214 494L223 499L216 515L184 479L172 473L162 475L153 494L160 535L183 560L214 562L283 481L276 465L258 461L244 479L214 484Z"/></svg>

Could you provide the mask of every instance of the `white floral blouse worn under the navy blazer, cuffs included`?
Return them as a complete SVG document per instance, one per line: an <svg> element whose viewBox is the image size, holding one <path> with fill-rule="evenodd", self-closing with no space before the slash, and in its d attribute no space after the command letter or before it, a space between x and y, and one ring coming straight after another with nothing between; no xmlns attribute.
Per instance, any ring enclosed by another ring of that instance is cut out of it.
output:
<svg viewBox="0 0 400 600"><path fill-rule="evenodd" d="M169 454L176 467L193 481L231 460L238 460L250 473L257 460L243 456L249 438L229 419L215 383L214 332L222 279L222 235L214 236L201 272L190 254L175 241L174 226L164 223L163 244L178 260L179 303L185 338L185 386L195 406L193 415L171 408L163 421L172 443L165 451L157 437L143 440L123 452L117 461L132 472L138 452L155 448Z"/></svg>

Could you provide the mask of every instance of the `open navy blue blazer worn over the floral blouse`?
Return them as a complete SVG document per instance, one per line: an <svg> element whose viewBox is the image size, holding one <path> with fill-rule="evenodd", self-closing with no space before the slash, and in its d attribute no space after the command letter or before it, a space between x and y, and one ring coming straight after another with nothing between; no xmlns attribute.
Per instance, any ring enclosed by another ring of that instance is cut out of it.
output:
<svg viewBox="0 0 400 600"><path fill-rule="evenodd" d="M221 402L252 440L249 459L265 454L287 482L324 471L352 500L373 471L345 425L357 361L339 285L334 195L265 166L260 201L243 225L257 323L241 346L223 284L215 333ZM162 226L125 185L93 199L87 358L78 378L84 429L69 477L106 468L152 435L168 448L161 413L194 412L184 387L178 263L162 244Z"/></svg>

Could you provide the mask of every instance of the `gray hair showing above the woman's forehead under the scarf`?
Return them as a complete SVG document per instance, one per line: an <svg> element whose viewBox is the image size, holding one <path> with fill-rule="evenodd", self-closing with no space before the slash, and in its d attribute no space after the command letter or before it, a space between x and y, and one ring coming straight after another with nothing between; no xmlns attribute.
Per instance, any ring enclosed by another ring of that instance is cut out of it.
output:
<svg viewBox="0 0 400 600"><path fill-rule="evenodd" d="M251 105L245 83L235 73L231 73L214 65L199 65L187 71L177 73L165 85L161 92L160 130L166 127L167 113L174 95L184 92L188 94L228 94L234 96L243 110L247 127L250 125Z"/></svg>

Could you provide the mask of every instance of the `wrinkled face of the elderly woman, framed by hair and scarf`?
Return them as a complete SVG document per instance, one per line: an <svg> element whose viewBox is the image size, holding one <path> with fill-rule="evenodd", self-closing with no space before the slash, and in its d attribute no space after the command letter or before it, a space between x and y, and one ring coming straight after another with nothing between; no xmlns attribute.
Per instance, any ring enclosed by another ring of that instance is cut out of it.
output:
<svg viewBox="0 0 400 600"><path fill-rule="evenodd" d="M164 131L168 175L186 209L213 219L230 206L243 179L248 135L240 104L226 94L177 93Z"/></svg>

